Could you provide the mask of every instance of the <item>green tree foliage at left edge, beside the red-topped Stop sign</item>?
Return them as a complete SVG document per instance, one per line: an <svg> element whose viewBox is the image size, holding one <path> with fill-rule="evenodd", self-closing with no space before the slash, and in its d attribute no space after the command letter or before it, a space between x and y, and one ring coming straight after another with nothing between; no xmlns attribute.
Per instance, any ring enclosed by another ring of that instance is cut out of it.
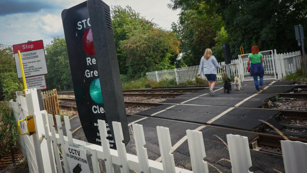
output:
<svg viewBox="0 0 307 173"><path fill-rule="evenodd" d="M15 92L22 89L22 80L17 78L12 47L0 44L0 100L13 99Z"/></svg>

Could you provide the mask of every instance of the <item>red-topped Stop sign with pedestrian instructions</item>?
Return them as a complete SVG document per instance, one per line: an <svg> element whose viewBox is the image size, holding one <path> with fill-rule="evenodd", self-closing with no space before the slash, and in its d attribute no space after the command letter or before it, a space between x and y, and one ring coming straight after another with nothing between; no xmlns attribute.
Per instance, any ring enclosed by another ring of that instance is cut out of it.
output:
<svg viewBox="0 0 307 173"><path fill-rule="evenodd" d="M13 45L17 77L22 78L18 50L21 53L25 77L44 75L48 73L43 40Z"/></svg>

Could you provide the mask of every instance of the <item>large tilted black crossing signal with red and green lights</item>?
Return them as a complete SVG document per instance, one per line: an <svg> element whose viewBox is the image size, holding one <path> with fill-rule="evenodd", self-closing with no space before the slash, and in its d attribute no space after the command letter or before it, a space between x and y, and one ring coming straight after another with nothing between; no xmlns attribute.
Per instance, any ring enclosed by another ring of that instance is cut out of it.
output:
<svg viewBox="0 0 307 173"><path fill-rule="evenodd" d="M101 144L97 120L105 120L110 147L116 148L112 121L122 123L130 141L110 7L88 0L62 11L77 109L86 139Z"/></svg>

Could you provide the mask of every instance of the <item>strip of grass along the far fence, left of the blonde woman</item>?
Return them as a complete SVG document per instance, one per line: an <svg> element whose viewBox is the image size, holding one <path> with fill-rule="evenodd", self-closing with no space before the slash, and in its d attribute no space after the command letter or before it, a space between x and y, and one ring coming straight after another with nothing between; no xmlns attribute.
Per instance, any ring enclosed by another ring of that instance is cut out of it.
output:
<svg viewBox="0 0 307 173"><path fill-rule="evenodd" d="M153 87L172 87L172 86L184 86L184 85L208 85L208 81L195 77L193 80L188 80L185 84L177 85L175 79L165 79L157 81L148 80L146 78L139 78L134 80L127 80L122 82L123 90L133 90L139 88L153 88Z"/></svg>

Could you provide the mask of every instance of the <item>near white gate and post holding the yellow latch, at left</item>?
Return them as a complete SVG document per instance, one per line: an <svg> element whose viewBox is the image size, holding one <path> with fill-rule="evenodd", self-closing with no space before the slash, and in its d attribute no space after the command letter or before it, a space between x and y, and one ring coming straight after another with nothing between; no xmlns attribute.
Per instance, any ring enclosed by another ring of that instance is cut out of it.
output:
<svg viewBox="0 0 307 173"><path fill-rule="evenodd" d="M38 106L38 98L36 88L27 89L23 91L16 92L16 102L13 99L9 102L10 108L13 110L14 117L16 121L25 119L26 116L34 115L34 112L40 112ZM33 135L18 135L18 140L16 141L17 147L21 152L27 157L29 172L30 173L49 173L50 162L43 159L44 157L49 157L49 153L45 153L48 150L47 142L42 139L41 133L43 133L44 125L42 122L42 117L33 117L35 122L35 131ZM21 133L28 131L25 121L21 121ZM39 135L40 134L40 135Z"/></svg>

